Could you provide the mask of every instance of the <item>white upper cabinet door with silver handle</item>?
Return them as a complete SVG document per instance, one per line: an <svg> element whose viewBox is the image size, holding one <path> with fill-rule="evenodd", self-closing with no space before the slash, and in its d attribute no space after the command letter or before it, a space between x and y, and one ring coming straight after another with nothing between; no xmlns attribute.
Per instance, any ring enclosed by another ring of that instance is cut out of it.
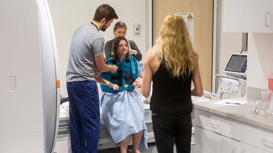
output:
<svg viewBox="0 0 273 153"><path fill-rule="evenodd" d="M273 33L273 1L223 0L223 32Z"/></svg>

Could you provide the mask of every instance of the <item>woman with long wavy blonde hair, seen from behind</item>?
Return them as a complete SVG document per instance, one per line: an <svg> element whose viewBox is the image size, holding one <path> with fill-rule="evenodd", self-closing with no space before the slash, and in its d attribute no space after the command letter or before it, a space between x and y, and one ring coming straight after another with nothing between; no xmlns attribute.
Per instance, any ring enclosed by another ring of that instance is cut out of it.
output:
<svg viewBox="0 0 273 153"><path fill-rule="evenodd" d="M142 82L143 81L143 82ZM147 51L143 80L135 86L147 97L153 81L152 123L159 153L191 151L191 95L201 96L203 88L198 55L193 51L182 16L169 14L163 21L156 44ZM191 81L194 87L191 88Z"/></svg>

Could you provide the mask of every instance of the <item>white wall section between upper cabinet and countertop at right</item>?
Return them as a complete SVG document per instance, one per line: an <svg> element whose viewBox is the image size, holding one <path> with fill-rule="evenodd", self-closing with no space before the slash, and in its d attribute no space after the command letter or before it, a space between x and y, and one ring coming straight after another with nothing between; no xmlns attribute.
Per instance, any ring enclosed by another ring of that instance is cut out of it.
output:
<svg viewBox="0 0 273 153"><path fill-rule="evenodd" d="M272 42L273 34L248 34L247 87L268 90L267 77L273 73Z"/></svg>

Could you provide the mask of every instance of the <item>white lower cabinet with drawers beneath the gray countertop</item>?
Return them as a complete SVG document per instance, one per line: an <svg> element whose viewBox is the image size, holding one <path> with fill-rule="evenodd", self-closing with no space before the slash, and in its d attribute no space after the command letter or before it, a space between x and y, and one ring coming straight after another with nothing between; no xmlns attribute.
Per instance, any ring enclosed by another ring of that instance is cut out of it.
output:
<svg viewBox="0 0 273 153"><path fill-rule="evenodd" d="M195 152L273 153L273 129L265 130L195 108Z"/></svg>

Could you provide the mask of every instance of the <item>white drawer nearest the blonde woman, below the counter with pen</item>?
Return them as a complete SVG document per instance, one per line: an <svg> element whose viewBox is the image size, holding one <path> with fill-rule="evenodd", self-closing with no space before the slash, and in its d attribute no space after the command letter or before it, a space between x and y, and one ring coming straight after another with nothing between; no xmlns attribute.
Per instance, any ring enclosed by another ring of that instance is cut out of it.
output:
<svg viewBox="0 0 273 153"><path fill-rule="evenodd" d="M240 121L195 109L195 125L240 141Z"/></svg>

